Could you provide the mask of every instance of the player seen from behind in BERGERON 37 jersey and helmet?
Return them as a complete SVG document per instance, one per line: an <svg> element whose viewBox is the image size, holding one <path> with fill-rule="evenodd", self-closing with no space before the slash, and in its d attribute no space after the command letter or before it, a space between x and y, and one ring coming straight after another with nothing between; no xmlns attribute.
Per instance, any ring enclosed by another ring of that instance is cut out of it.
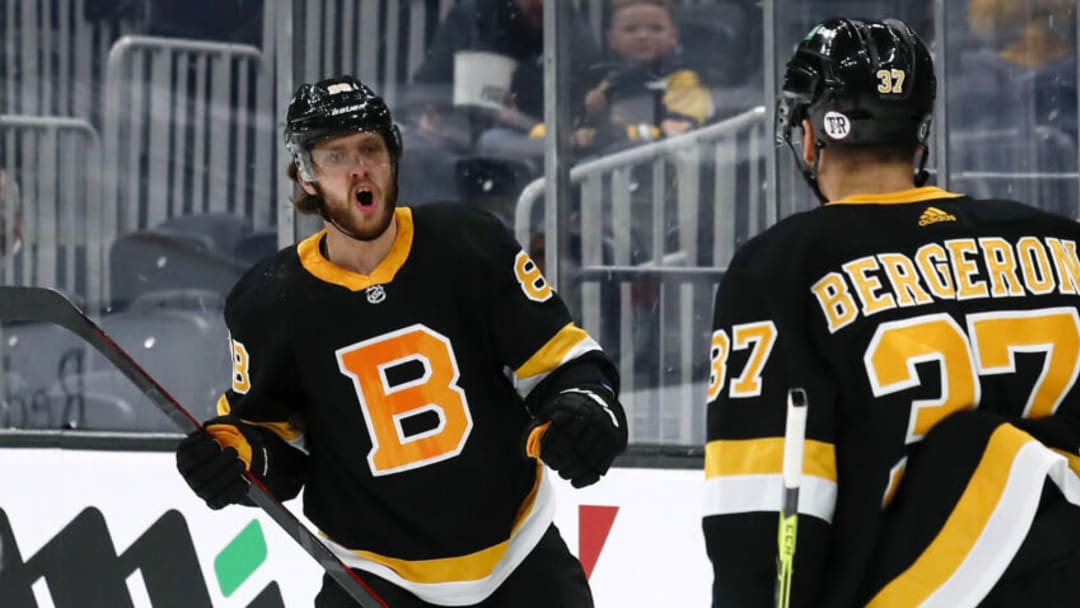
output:
<svg viewBox="0 0 1080 608"><path fill-rule="evenodd" d="M713 605L772 606L788 391L807 414L791 606L1078 606L1080 226L924 186L930 53L834 18L777 108L821 207L716 294Z"/></svg>

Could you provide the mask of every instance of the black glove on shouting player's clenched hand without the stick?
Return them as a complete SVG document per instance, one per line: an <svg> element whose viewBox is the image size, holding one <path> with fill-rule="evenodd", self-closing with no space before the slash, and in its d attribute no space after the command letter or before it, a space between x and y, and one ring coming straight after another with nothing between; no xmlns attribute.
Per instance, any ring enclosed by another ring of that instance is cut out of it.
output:
<svg viewBox="0 0 1080 608"><path fill-rule="evenodd" d="M567 389L541 408L526 437L526 454L582 488L598 482L626 448L626 420L609 390Z"/></svg>

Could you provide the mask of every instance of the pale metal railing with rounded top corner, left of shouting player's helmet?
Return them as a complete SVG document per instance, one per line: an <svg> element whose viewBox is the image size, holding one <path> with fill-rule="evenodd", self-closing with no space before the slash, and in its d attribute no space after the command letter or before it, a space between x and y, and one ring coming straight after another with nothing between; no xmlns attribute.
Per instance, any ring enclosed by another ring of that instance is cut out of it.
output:
<svg viewBox="0 0 1080 608"><path fill-rule="evenodd" d="M191 214L273 225L280 146L258 49L124 37L105 79L104 241Z"/></svg>

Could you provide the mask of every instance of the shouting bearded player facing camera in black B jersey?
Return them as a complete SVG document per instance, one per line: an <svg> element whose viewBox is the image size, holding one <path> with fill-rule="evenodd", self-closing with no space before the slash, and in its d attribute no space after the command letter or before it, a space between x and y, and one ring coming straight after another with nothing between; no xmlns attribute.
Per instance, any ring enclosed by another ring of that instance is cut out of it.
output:
<svg viewBox="0 0 1080 608"><path fill-rule="evenodd" d="M243 468L302 486L393 608L592 606L541 461L581 487L625 447L610 361L494 216L395 205L401 135L366 85L305 84L286 122L294 204L326 228L229 295L232 387L181 474L213 509ZM352 604L327 578L315 605Z"/></svg>

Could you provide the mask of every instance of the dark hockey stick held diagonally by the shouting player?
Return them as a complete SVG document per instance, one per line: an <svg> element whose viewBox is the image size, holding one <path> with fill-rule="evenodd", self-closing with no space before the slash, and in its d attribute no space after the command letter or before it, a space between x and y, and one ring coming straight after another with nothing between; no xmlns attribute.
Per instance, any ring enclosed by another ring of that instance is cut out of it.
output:
<svg viewBox="0 0 1080 608"><path fill-rule="evenodd" d="M109 360L181 431L191 433L202 428L153 377L59 292L41 287L0 286L0 321L37 321L64 327ZM249 482L247 498L302 546L308 555L314 557L350 597L362 608L388 608L355 572L346 567L288 509L278 502L261 482L251 472L245 472L244 475Z"/></svg>

